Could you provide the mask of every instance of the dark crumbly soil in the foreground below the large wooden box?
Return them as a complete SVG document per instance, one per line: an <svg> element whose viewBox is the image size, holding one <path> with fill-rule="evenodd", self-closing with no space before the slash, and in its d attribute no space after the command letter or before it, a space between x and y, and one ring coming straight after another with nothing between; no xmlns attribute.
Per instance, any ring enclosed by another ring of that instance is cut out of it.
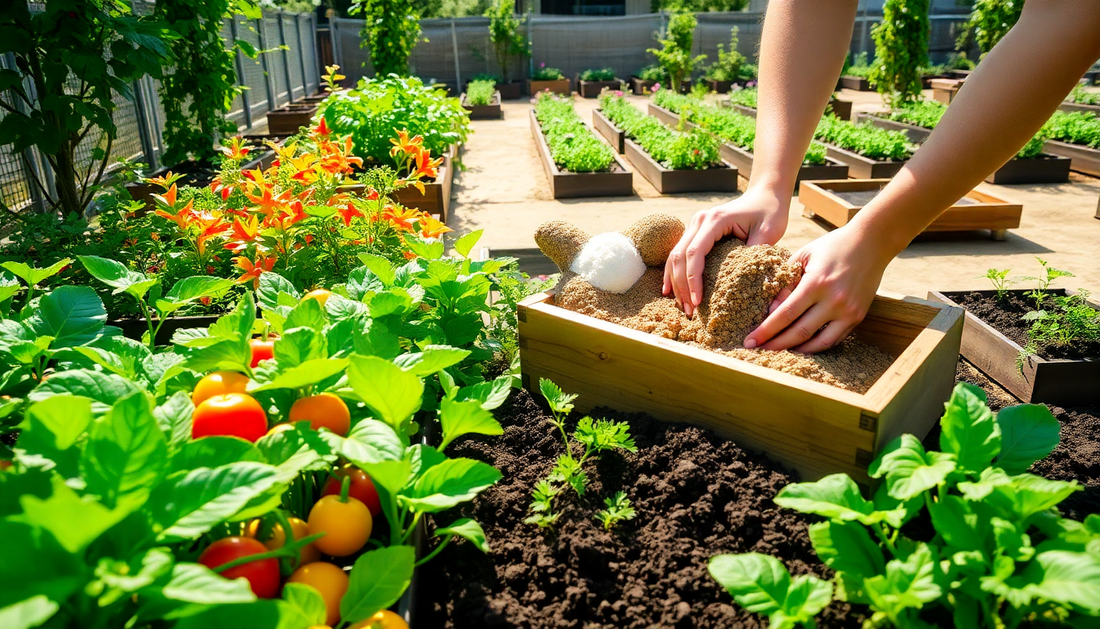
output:
<svg viewBox="0 0 1100 629"><path fill-rule="evenodd" d="M625 420L638 451L604 453L586 465L583 497L556 500L553 529L525 523L531 489L561 454L549 417L526 391L496 412L502 437L457 442L453 456L495 465L504 479L472 505L443 515L475 518L493 552L468 543L421 571L417 624L446 628L765 627L706 572L721 553L761 552L794 574L827 577L807 537L807 519L772 497L796 481L767 456L710 431L597 409ZM572 426L568 427L572 431ZM625 492L637 517L610 532L594 519L603 500ZM452 518L453 517L453 518ZM862 616L834 603L818 627L860 627Z"/></svg>

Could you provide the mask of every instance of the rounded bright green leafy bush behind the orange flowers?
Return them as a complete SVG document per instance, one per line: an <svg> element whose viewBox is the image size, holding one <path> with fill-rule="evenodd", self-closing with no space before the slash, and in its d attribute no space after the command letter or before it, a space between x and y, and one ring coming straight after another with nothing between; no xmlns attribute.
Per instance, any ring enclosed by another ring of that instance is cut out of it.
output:
<svg viewBox="0 0 1100 629"><path fill-rule="evenodd" d="M389 141L396 137L396 130L422 136L424 146L432 156L465 142L470 133L470 114L459 99L424 85L416 77L360 79L356 88L324 99L319 114L334 133L352 136L355 155L367 166L404 165L389 155L393 148Z"/></svg>

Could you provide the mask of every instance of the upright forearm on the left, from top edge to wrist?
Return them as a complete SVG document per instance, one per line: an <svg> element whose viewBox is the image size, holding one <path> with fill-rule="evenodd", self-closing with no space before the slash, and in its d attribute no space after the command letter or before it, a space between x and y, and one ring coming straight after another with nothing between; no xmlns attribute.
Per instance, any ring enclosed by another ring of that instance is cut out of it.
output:
<svg viewBox="0 0 1100 629"><path fill-rule="evenodd" d="M799 167L836 88L858 0L772 0L760 40L749 188L790 202Z"/></svg>

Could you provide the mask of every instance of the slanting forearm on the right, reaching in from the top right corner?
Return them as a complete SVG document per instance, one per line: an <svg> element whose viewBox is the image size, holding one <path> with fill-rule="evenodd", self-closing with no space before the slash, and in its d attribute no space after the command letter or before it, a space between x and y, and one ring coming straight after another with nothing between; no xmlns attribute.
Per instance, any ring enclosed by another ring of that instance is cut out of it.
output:
<svg viewBox="0 0 1100 629"><path fill-rule="evenodd" d="M1100 2L1028 0L909 164L849 224L891 260L999 168L1100 57Z"/></svg>

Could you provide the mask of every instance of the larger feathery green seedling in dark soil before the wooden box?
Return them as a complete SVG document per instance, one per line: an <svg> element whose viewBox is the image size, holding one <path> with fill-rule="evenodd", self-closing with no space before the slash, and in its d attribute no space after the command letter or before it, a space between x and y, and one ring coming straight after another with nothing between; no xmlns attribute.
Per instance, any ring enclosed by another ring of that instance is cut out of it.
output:
<svg viewBox="0 0 1100 629"><path fill-rule="evenodd" d="M561 493L561 488L556 485L569 485L579 496L583 496L588 485L588 475L584 473L583 467L590 459L608 450L637 452L637 448L630 437L630 427L626 422L594 420L591 417L583 417L576 422L573 440L570 441L565 431L565 418L573 410L576 395L562 391L561 387L547 378L539 380L539 390L550 404L550 422L561 432L562 444L565 446L565 453L558 457L558 463L550 475L536 485L531 495L534 515L524 520L546 528L552 526L560 515L553 512L553 498ZM580 457L573 455L573 443L584 446Z"/></svg>

